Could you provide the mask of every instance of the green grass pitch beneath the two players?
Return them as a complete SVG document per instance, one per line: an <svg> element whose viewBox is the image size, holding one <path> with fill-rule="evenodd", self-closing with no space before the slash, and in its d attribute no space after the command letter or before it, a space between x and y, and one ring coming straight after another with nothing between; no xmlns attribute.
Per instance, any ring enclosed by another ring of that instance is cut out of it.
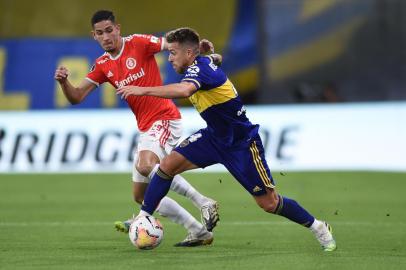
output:
<svg viewBox="0 0 406 270"><path fill-rule="evenodd" d="M0 269L406 269L404 173L275 174L281 194L333 226L333 253L263 212L228 174L186 177L220 203L213 245L173 247L186 231L161 217L161 246L139 251L113 229L139 209L129 174L0 175Z"/></svg>

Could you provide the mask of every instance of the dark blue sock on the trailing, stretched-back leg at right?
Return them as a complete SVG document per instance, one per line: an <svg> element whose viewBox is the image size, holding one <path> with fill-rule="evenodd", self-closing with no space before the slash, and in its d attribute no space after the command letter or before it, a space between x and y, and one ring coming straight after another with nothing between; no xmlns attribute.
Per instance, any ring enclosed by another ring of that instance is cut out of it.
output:
<svg viewBox="0 0 406 270"><path fill-rule="evenodd" d="M301 207L295 200L279 196L278 207L275 214L283 216L305 227L310 227L314 222L314 217Z"/></svg>

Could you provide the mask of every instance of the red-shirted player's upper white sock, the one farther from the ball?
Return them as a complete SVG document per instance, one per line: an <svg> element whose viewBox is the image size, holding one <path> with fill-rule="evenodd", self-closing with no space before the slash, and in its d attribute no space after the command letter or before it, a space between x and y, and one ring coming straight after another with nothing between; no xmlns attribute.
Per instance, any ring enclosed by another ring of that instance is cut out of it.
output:
<svg viewBox="0 0 406 270"><path fill-rule="evenodd" d="M173 178L171 189L179 195L190 199L197 208L201 208L209 201L209 198L198 192L185 178L181 175L176 175Z"/></svg>

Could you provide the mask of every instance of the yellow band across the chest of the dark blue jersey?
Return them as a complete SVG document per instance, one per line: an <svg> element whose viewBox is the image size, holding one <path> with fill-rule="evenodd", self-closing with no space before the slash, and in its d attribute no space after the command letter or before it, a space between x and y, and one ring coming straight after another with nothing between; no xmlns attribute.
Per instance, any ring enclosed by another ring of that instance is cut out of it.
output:
<svg viewBox="0 0 406 270"><path fill-rule="evenodd" d="M189 79L188 79L189 80ZM201 113L207 108L237 97L237 92L229 79L219 87L210 90L198 90L189 97L196 110Z"/></svg>

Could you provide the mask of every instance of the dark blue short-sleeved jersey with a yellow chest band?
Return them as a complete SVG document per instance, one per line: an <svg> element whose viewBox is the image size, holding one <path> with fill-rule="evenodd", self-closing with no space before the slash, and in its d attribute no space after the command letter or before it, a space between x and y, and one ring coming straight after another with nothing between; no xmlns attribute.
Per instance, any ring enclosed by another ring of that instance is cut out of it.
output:
<svg viewBox="0 0 406 270"><path fill-rule="evenodd" d="M189 97L207 123L207 131L224 146L245 145L258 133L245 115L245 107L231 81L209 56L198 56L182 81L193 83L197 91Z"/></svg>

